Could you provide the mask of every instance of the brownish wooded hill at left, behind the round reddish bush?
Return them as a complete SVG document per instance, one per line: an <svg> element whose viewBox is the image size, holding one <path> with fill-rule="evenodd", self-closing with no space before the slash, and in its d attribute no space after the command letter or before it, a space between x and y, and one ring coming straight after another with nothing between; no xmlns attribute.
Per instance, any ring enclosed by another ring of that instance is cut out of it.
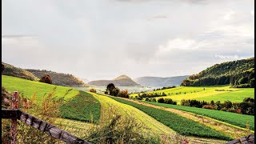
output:
<svg viewBox="0 0 256 144"><path fill-rule="evenodd" d="M42 78L45 75L50 75L54 85L58 86L88 86L81 79L74 77L72 74L57 73L50 70L32 70L26 69L32 74L36 75L38 78Z"/></svg>

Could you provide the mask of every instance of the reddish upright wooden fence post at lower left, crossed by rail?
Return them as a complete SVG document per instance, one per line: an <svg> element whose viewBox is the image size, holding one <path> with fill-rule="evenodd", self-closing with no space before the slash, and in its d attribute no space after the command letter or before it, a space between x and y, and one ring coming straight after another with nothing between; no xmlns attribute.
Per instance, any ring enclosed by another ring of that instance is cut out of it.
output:
<svg viewBox="0 0 256 144"><path fill-rule="evenodd" d="M12 109L18 109L18 91L14 91L13 98L11 102ZM11 119L11 127L10 127L10 143L15 144L17 141L17 118Z"/></svg>

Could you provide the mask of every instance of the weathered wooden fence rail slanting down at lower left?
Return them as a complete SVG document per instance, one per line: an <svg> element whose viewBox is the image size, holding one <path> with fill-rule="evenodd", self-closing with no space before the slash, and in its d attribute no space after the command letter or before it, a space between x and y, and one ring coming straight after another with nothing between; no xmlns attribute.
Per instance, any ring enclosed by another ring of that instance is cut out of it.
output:
<svg viewBox="0 0 256 144"><path fill-rule="evenodd" d="M33 126L34 128L49 134L54 138L58 138L68 144L89 144L90 142L86 142L85 140L74 136L66 132L65 130L61 130L56 126L51 125L39 118L35 118L34 116L23 112L22 110L1 110L1 118L12 118L18 119L21 122L26 123L29 126Z"/></svg>

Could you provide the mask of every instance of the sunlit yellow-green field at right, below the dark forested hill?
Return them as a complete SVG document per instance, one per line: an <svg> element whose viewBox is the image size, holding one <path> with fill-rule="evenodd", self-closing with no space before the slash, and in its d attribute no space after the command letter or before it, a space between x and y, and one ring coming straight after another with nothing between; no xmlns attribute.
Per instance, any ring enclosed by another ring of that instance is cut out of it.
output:
<svg viewBox="0 0 256 144"><path fill-rule="evenodd" d="M157 97L156 99L172 98L178 104L182 99L196 99L206 102L210 102L211 100L214 100L214 102L224 102L227 100L231 102L242 102L244 98L254 98L254 88L230 88L230 86L178 86L172 89L149 91L146 93L162 94L162 92L167 94L167 96ZM130 94L130 96L137 95Z"/></svg>

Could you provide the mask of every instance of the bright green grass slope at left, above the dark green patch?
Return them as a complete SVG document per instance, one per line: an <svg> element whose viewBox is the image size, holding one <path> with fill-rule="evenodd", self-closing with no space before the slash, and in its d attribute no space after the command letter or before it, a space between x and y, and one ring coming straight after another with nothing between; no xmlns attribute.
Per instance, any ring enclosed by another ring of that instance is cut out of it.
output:
<svg viewBox="0 0 256 144"><path fill-rule="evenodd" d="M66 91L71 89L70 87L55 86L6 75L2 75L2 86L9 92L18 91L19 94L22 93L26 98L32 98L32 96L36 94L38 103L41 103L44 95L52 91L54 87L57 87L54 97L63 97ZM70 90L70 92L66 94L65 99L68 100L78 94L79 90Z"/></svg>

